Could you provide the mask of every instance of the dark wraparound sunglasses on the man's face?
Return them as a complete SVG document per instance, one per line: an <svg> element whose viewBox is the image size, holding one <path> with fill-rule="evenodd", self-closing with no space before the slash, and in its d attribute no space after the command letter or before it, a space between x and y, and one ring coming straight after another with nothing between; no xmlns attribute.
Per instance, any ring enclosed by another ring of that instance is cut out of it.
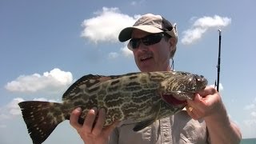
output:
<svg viewBox="0 0 256 144"><path fill-rule="evenodd" d="M145 46L154 45L161 41L161 39L165 36L164 33L158 34L149 34L143 38L131 38L128 44L128 48L130 50L137 49L140 43L142 42Z"/></svg>

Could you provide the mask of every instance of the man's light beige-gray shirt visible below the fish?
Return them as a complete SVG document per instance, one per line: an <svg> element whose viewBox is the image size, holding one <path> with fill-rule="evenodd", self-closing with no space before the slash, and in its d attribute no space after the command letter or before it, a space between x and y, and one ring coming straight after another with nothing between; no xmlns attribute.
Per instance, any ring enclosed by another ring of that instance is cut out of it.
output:
<svg viewBox="0 0 256 144"><path fill-rule="evenodd" d="M168 118L162 118L151 126L134 132L135 124L125 121L110 135L110 144L164 144L164 143L209 143L206 123L190 118L182 110Z"/></svg>

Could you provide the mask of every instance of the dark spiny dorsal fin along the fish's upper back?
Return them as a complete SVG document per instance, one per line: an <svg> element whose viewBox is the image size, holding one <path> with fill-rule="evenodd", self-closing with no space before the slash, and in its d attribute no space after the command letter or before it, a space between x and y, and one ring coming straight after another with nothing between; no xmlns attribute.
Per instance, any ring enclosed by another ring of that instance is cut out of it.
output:
<svg viewBox="0 0 256 144"><path fill-rule="evenodd" d="M114 78L114 76L104 76L104 75L94 75L94 74L85 75L82 78L79 78L66 90L66 92L62 96L62 100L65 101L66 99L73 97L73 94L77 93L81 89L80 88L81 86L84 86L83 89L88 89L91 86L98 85L101 82L106 82L112 78Z"/></svg>

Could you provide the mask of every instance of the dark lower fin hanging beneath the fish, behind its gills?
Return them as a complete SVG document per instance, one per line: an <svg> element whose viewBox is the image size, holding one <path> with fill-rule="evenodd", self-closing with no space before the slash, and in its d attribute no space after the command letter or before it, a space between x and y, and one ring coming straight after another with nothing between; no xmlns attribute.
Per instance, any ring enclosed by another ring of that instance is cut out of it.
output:
<svg viewBox="0 0 256 144"><path fill-rule="evenodd" d="M157 109L157 110L155 110L156 113L155 113L154 117L150 118L150 119L146 119L145 121L142 121L142 122L138 122L134 126L134 129L133 129L134 131L142 130L142 129L146 128L146 126L150 126L152 123L154 123L158 119L160 109L161 109L161 103L159 102L159 104L156 107L153 106L152 109Z"/></svg>

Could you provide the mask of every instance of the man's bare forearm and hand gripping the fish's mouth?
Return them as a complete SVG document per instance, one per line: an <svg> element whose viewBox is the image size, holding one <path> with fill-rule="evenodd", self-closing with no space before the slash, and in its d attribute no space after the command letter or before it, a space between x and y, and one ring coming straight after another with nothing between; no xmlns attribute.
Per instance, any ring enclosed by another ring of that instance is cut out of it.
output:
<svg viewBox="0 0 256 144"><path fill-rule="evenodd" d="M193 101L188 100L188 107L193 108L187 109L191 118L205 120L211 143L240 143L242 134L238 126L230 122L222 98L213 87L207 86L195 94Z"/></svg>

